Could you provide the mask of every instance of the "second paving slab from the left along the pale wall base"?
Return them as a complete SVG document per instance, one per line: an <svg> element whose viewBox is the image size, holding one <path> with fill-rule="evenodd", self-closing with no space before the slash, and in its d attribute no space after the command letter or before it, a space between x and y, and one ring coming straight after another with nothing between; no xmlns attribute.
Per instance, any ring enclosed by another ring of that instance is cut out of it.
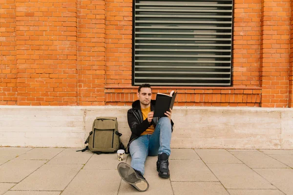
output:
<svg viewBox="0 0 293 195"><path fill-rule="evenodd" d="M64 148L34 148L18 158L21 160L50 160L63 150Z"/></svg>

